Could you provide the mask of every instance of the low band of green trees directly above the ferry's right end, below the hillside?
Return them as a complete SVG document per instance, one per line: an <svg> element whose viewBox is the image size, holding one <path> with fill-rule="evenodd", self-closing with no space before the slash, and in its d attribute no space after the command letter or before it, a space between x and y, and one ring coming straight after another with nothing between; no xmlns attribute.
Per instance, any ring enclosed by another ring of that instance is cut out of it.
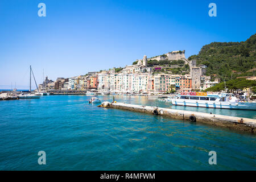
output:
<svg viewBox="0 0 256 182"><path fill-rule="evenodd" d="M213 91L218 92L221 90L225 90L225 87L229 90L237 90L237 89L243 89L243 88L253 88L253 92L255 93L255 87L256 87L256 80L246 80L245 78L237 78L232 79L226 82L221 82L220 84L217 84L215 86L212 86L205 91Z"/></svg>

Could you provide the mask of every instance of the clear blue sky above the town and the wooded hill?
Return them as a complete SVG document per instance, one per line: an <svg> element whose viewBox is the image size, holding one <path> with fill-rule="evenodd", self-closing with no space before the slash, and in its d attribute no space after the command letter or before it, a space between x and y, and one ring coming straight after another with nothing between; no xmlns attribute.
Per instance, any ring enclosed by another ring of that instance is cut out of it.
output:
<svg viewBox="0 0 256 182"><path fill-rule="evenodd" d="M46 17L38 4L46 4ZM217 17L208 5L217 5ZM256 30L256 1L0 1L0 89L28 88L29 65L72 77L211 42L245 41Z"/></svg>

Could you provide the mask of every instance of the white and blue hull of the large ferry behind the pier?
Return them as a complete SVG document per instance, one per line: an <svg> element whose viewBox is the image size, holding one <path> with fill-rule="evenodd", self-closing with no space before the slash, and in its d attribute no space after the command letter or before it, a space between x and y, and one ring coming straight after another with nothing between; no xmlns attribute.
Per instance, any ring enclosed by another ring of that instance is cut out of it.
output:
<svg viewBox="0 0 256 182"><path fill-rule="evenodd" d="M214 101L184 101L184 100L171 100L172 105L180 106L193 106L193 107L208 107L216 109L242 109L242 110L256 110L256 102L214 102Z"/></svg>

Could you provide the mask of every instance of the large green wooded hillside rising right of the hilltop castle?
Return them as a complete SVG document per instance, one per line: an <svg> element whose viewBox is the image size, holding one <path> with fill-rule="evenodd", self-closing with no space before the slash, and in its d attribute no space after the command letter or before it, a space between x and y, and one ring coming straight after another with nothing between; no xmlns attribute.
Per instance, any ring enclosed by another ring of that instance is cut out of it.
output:
<svg viewBox="0 0 256 182"><path fill-rule="evenodd" d="M245 42L213 42L203 46L196 59L197 64L207 65L207 75L221 78L222 81L238 76L252 76L255 71L246 72L256 67L256 34Z"/></svg>

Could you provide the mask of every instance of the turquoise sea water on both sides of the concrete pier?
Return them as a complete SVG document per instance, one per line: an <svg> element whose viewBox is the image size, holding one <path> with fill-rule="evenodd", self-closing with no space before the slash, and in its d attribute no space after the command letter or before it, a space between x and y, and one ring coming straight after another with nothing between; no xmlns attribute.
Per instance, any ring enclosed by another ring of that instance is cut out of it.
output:
<svg viewBox="0 0 256 182"><path fill-rule="evenodd" d="M112 100L112 96L100 96ZM89 96L0 102L1 170L255 170L256 136L151 114L96 107ZM143 96L131 104L256 118L255 111L171 106ZM38 164L46 152L46 165ZM209 165L209 151L217 165Z"/></svg>

